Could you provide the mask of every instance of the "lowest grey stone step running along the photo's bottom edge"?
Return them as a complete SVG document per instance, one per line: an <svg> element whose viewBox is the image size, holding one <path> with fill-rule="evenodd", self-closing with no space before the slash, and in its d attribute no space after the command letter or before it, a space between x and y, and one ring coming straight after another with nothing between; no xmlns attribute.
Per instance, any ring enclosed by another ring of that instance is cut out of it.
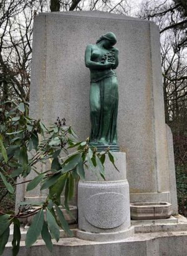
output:
<svg viewBox="0 0 187 256"><path fill-rule="evenodd" d="M135 234L121 241L92 242L76 238L60 239L51 252L41 240L26 249L21 242L22 256L186 256L187 232L158 232ZM12 255L12 244L6 247L3 256Z"/></svg>

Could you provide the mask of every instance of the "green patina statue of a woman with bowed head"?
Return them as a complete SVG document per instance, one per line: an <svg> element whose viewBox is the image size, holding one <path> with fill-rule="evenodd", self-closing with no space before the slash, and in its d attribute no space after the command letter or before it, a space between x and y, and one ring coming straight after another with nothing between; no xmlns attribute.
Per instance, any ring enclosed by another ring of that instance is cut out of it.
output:
<svg viewBox="0 0 187 256"><path fill-rule="evenodd" d="M90 69L90 145L98 151L117 145L118 82L113 69L118 66L115 34L108 32L85 50L85 66Z"/></svg>

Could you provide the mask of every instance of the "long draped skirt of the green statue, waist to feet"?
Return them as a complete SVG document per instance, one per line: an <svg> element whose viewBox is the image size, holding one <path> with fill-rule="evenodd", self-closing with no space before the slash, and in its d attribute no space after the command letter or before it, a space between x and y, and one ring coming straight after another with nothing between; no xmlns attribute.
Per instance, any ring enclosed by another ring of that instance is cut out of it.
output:
<svg viewBox="0 0 187 256"><path fill-rule="evenodd" d="M118 82L112 69L95 71L90 82L90 144L117 144Z"/></svg>

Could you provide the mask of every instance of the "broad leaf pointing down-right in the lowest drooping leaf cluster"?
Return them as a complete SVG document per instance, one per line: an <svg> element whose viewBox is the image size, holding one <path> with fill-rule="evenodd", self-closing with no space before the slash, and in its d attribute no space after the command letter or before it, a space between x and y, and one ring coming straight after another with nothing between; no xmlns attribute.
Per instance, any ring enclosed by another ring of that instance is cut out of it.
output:
<svg viewBox="0 0 187 256"><path fill-rule="evenodd" d="M57 225L54 215L52 215L49 209L46 209L46 220L50 230L50 234L58 242L60 239L59 226Z"/></svg>

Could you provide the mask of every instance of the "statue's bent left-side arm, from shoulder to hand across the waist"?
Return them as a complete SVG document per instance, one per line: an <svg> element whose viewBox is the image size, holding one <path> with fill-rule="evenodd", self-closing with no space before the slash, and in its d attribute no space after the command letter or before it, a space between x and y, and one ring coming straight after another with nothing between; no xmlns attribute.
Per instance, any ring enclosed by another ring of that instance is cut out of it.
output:
<svg viewBox="0 0 187 256"><path fill-rule="evenodd" d="M112 63L98 63L95 61L91 61L92 56L92 45L89 44L85 50L85 66L89 67L89 69L110 69L112 67Z"/></svg>

